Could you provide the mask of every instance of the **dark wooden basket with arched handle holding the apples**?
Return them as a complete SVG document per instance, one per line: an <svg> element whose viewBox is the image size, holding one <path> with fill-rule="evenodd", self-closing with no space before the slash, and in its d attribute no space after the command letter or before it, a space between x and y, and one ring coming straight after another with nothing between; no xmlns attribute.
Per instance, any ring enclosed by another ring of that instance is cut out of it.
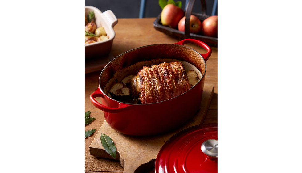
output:
<svg viewBox="0 0 302 173"><path fill-rule="evenodd" d="M185 16L186 16L186 22L185 22L185 31L178 31L177 29L174 28L170 28L170 27L166 27L163 26L161 24L161 14L159 14L157 16L157 18L154 20L153 22L153 27L160 31L163 32L169 36L173 36L177 39L186 39L186 38L193 38L196 40L200 40L205 42L206 44L208 44L209 46L214 46L217 47L217 38L216 37L208 37L208 36L203 36L203 35L199 35L199 34L193 34L189 32L189 21L190 21L190 15L195 15L196 17L198 17L200 19L200 21L202 22L203 20L205 20L206 18L210 17L209 15L206 15L206 4L204 0L201 0L201 5L202 5L202 14L199 13L192 13L192 8L194 5L195 0L189 0L188 4L187 4L187 8L185 11ZM188 13L187 13L188 12Z"/></svg>

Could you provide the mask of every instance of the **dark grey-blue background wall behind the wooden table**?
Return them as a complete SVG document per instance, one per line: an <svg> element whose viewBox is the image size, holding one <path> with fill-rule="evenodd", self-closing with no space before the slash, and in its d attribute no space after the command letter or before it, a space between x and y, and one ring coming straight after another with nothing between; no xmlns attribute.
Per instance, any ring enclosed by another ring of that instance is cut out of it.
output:
<svg viewBox="0 0 302 173"><path fill-rule="evenodd" d="M178 0L174 0L175 2ZM182 2L182 9L185 10L186 0ZM211 15L214 0L206 0L206 14ZM94 6L100 11L111 10L116 18L139 18L141 0L85 0L85 6ZM200 1L194 2L194 13L201 13ZM157 17L161 13L161 7L158 5L158 0L146 0L145 12L143 17ZM217 15L217 10L215 15Z"/></svg>

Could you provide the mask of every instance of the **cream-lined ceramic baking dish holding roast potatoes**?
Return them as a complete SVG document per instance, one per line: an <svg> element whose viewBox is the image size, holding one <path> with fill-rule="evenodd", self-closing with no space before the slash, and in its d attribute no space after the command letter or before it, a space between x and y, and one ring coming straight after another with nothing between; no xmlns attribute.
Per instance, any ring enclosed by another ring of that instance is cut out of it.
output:
<svg viewBox="0 0 302 173"><path fill-rule="evenodd" d="M93 11L95 15L95 23L97 27L104 27L108 40L85 44L85 59L93 57L103 57L110 53L112 42L115 37L114 25L117 23L117 18L111 10L107 10L102 13L98 8L93 6L85 6L85 16L88 15L88 11Z"/></svg>

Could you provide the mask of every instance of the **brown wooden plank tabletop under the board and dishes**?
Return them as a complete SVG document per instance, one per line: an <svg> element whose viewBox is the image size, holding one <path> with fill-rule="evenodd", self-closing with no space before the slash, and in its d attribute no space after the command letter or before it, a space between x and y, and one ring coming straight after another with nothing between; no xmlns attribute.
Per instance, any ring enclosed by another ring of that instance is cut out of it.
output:
<svg viewBox="0 0 302 173"><path fill-rule="evenodd" d="M153 21L155 19L156 18L118 19L118 23L114 26L116 36L112 44L112 55L116 57L128 50L149 44L173 44L180 41L155 30L153 27ZM199 53L206 53L206 50L199 46L193 44L185 44L185 46L188 46ZM217 123L217 48L211 47L211 49L212 55L208 61L206 61L205 83L214 85L214 96L203 124ZM89 98L98 88L98 79L101 70L102 69L85 74L85 112L90 111L90 116L96 118L91 124L85 126L85 131L97 129L94 134L85 139L85 172L123 172L124 169L119 161L99 158L89 154L89 146L105 120L102 111L93 106ZM149 172L154 172L154 170Z"/></svg>

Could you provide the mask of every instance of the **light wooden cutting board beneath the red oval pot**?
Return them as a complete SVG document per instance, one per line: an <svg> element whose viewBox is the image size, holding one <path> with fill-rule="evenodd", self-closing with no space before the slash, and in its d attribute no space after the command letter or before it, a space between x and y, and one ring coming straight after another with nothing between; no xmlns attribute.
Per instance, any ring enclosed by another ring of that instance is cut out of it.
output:
<svg viewBox="0 0 302 173"><path fill-rule="evenodd" d="M89 146L90 155L114 159L104 150L101 144L100 135L101 133L104 133L111 137L114 142L116 146L116 160L119 160L122 167L124 167L124 173L146 172L154 169L157 154L170 137L183 129L199 125L203 122L213 94L214 85L204 84L202 103L198 112L182 126L158 135L147 137L124 135L113 130L107 122L104 121L96 134L96 137Z"/></svg>

